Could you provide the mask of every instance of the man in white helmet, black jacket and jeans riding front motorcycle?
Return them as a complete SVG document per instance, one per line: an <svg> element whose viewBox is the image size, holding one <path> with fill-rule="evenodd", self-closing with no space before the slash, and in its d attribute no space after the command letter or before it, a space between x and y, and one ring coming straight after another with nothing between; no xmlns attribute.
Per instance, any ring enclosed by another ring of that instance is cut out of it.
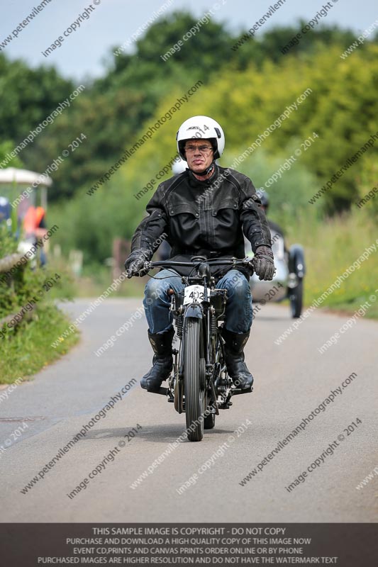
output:
<svg viewBox="0 0 378 567"><path fill-rule="evenodd" d="M208 116L194 116L180 126L176 139L177 150L188 169L163 181L150 199L146 207L148 217L135 230L132 252L125 262L128 276L140 273L164 233L172 246L170 259L181 262L189 262L194 256L244 258L244 233L255 252L255 273L260 279L271 280L271 237L255 187L247 176L216 164L225 146L221 125ZM172 371L174 329L167 291L182 291L181 276L188 276L190 271L185 267L175 271L163 269L145 286L143 305L154 357L140 386L148 391L158 391ZM228 291L222 330L228 375L235 386L247 390L253 383L244 361L252 325L250 274L229 266L213 267L211 274L217 288Z"/></svg>

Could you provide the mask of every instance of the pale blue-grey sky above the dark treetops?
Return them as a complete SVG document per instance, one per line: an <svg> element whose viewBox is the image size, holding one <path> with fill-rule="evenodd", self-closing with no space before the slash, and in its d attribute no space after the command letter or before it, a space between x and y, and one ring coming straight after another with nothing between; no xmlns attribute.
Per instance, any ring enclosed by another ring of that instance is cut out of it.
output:
<svg viewBox="0 0 378 567"><path fill-rule="evenodd" d="M0 45L13 30L39 6L42 0L0 0ZM21 31L14 35L2 51L11 59L22 57L33 66L55 64L65 77L79 81L87 77L104 74L104 62L114 45L122 45L140 26L143 26L154 11L163 4L170 4L165 13L189 9L194 16L201 16L218 1L219 9L213 16L217 21L226 21L231 30L252 27L269 6L277 0L50 0L43 11ZM286 0L262 30L263 33L277 24L292 24L297 18L311 20L322 6L321 0ZM330 0L332 9L323 23L338 24L362 32L378 20L377 0ZM89 19L82 21L80 28L65 38L61 47L47 58L42 55L50 45L63 35L64 30L77 21L84 9L92 6ZM204 33L206 27L201 28ZM128 51L133 50L130 45Z"/></svg>

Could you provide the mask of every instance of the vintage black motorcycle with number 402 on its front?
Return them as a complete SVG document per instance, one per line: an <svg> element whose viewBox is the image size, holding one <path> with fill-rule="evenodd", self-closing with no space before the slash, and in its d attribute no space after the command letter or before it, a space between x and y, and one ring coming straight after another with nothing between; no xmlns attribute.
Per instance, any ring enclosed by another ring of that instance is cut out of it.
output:
<svg viewBox="0 0 378 567"><path fill-rule="evenodd" d="M237 388L227 374L224 361L224 339L221 336L227 290L217 289L210 266L240 266L252 271L248 259L206 259L192 257L191 262L145 262L143 274L153 268L187 266L189 276L182 276L182 292L172 288L170 311L179 338L179 349L172 349L174 364L167 388L156 393L165 395L174 409L185 413L189 441L201 441L204 430L215 427L219 410L233 405L234 395L252 392L252 388ZM175 274L177 277L177 274Z"/></svg>

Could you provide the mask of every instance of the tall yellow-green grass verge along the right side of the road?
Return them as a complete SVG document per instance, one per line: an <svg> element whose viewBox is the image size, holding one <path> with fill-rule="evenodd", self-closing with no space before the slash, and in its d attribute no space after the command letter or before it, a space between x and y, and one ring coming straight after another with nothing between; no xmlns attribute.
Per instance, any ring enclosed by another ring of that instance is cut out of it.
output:
<svg viewBox="0 0 378 567"><path fill-rule="evenodd" d="M345 274L340 287L330 293L322 306L335 313L352 314L368 301L371 307L365 317L378 318L378 235L377 223L372 218L360 210L323 223L304 215L292 223L287 236L289 245L299 242L304 246L305 307L321 297L338 276ZM368 257L357 262L367 249ZM349 275L345 273L348 268Z"/></svg>

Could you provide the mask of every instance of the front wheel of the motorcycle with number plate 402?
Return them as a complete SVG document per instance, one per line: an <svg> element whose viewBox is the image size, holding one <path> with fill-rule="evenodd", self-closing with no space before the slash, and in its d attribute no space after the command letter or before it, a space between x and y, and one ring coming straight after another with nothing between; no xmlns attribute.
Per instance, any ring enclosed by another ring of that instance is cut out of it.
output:
<svg viewBox="0 0 378 567"><path fill-rule="evenodd" d="M205 376L201 319L185 320L184 324L184 390L185 416L189 441L204 437Z"/></svg>

